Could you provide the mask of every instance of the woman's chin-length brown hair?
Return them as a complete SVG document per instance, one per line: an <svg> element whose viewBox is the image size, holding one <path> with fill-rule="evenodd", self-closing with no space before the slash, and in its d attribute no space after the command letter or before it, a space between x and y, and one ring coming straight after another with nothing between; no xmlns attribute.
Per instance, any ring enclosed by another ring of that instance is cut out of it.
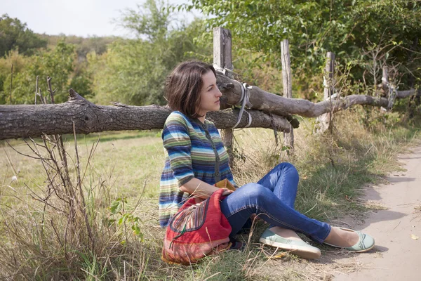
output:
<svg viewBox="0 0 421 281"><path fill-rule="evenodd" d="M167 77L165 96L171 110L178 110L188 117L201 117L196 112L200 105L203 74L216 72L212 65L199 60L180 63Z"/></svg>

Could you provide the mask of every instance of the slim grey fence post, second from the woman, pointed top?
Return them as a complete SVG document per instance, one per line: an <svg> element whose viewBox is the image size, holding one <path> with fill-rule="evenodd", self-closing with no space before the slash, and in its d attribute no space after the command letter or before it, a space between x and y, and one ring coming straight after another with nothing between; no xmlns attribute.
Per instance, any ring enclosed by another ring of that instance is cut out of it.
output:
<svg viewBox="0 0 421 281"><path fill-rule="evenodd" d="M293 77L291 74L291 62L290 62L288 39L284 39L283 41L281 41L281 62L282 62L283 96L285 98L293 98ZM283 141L290 148L290 152L293 152L293 149L294 149L293 126L290 125L289 133L283 133Z"/></svg>

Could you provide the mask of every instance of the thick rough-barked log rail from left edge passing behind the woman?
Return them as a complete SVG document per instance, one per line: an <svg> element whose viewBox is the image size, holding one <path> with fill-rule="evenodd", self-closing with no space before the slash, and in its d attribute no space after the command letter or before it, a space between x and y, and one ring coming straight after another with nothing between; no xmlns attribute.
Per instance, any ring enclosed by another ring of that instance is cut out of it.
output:
<svg viewBox="0 0 421 281"><path fill-rule="evenodd" d="M44 133L73 133L73 122L76 133L162 129L166 117L171 113L168 107L158 105L95 105L72 89L69 94L67 103L55 105L0 105L0 140L35 137ZM228 109L209 112L206 117L219 129L228 129L234 126L238 115L239 110ZM289 131L289 123L284 117L257 110L250 110L250 115L250 127ZM244 114L237 127L243 128L247 124L248 115Z"/></svg>

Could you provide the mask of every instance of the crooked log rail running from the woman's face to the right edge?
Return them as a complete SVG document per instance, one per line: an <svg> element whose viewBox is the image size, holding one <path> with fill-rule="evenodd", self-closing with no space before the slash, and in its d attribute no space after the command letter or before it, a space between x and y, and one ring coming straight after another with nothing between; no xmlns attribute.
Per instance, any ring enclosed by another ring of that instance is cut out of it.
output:
<svg viewBox="0 0 421 281"><path fill-rule="evenodd" d="M241 100L241 83L226 77L221 72L217 73L217 84L223 96L221 100L228 105L237 105ZM323 100L319 103L312 103L301 98L284 98L274 93L263 91L258 86L252 86L250 91L250 103L252 109L262 110L280 116L300 115L302 117L318 117L323 113L338 112L345 110L352 105L372 105L387 107L387 98L376 98L373 96L351 95L344 98ZM417 91L398 91L396 98L406 98L416 95Z"/></svg>

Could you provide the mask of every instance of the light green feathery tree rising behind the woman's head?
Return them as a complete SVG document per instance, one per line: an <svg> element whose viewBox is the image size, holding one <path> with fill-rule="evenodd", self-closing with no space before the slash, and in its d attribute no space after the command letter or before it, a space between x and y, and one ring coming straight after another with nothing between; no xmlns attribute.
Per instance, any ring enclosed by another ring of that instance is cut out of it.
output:
<svg viewBox="0 0 421 281"><path fill-rule="evenodd" d="M172 11L170 5L154 0L146 1L138 11L126 11L121 25L133 32L135 39L116 40L106 53L88 55L96 103L163 105L166 76L173 67L199 52L210 58L210 46L194 41L202 31L201 22L175 27L171 25Z"/></svg>

